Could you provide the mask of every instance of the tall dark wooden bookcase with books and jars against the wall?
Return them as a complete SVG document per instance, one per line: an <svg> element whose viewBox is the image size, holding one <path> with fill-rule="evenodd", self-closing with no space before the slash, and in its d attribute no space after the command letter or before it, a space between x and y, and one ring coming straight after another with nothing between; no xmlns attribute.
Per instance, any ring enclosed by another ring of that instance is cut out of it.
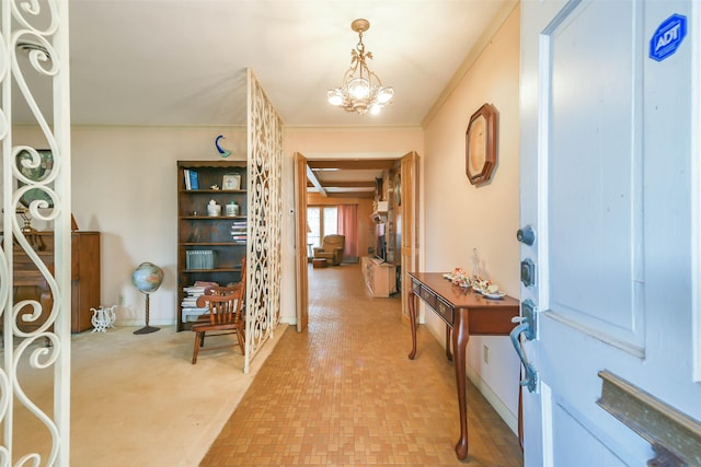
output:
<svg viewBox="0 0 701 467"><path fill-rule="evenodd" d="M177 330L189 329L199 315L183 306L188 296L184 288L198 281L226 285L241 280L248 238L245 187L245 161L177 162ZM208 214L212 200L221 207L216 215ZM227 210L231 203L238 206L235 215Z"/></svg>

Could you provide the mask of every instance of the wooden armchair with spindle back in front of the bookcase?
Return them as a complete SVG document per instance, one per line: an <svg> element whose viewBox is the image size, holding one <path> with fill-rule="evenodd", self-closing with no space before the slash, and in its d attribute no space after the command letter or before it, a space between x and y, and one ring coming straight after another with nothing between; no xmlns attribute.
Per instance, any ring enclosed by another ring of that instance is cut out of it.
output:
<svg viewBox="0 0 701 467"><path fill-rule="evenodd" d="M242 319L243 302L245 300L245 281L231 287L212 287L197 299L197 306L208 306L208 320L197 322L193 325L195 332L195 349L193 351L193 364L197 363L199 351L235 347L227 343L216 347L204 347L205 335L223 336L235 334L241 353L245 353L245 323Z"/></svg>

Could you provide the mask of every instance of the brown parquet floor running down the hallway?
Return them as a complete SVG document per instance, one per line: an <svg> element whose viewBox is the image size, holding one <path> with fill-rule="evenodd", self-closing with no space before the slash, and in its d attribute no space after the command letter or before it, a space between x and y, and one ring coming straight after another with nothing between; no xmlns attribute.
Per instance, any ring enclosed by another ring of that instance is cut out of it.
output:
<svg viewBox="0 0 701 467"><path fill-rule="evenodd" d="M400 299L370 299L358 265L309 268L309 329L289 329L202 466L522 466L518 437L468 384L469 457L455 371Z"/></svg>

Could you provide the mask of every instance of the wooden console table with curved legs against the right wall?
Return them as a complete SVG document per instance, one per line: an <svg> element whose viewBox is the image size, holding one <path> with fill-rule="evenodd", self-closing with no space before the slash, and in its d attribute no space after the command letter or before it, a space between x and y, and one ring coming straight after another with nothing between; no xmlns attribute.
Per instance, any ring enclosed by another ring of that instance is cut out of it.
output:
<svg viewBox="0 0 701 467"><path fill-rule="evenodd" d="M466 396L466 350L470 335L508 336L516 326L519 302L510 296L489 300L472 289L453 285L440 272L410 272L409 317L412 328L411 360L416 357L416 296L421 297L446 323L446 357L455 351L456 383L460 410L460 439L456 444L459 459L468 456L468 402Z"/></svg>

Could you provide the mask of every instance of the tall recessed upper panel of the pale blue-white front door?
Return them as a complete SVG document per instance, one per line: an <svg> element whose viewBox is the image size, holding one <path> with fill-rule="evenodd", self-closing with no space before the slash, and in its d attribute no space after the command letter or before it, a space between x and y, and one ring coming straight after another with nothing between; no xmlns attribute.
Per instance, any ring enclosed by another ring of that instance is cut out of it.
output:
<svg viewBox="0 0 701 467"><path fill-rule="evenodd" d="M614 19L614 27L591 34L601 17ZM543 167L548 196L541 199L550 261L543 282L550 293L541 307L628 348L642 347L644 327L641 250L631 247L642 244L635 105L641 21L633 2L581 4L550 23L541 56L541 69L550 74L550 95L543 98L552 110Z"/></svg>

